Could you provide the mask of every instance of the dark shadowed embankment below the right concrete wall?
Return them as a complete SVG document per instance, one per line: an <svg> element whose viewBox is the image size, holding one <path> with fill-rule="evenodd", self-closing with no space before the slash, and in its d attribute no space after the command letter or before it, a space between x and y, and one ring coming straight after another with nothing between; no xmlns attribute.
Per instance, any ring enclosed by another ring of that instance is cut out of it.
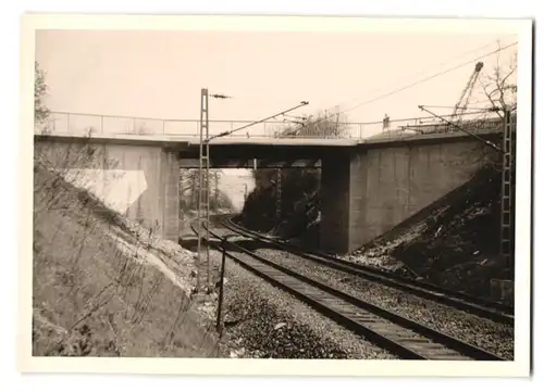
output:
<svg viewBox="0 0 544 392"><path fill-rule="evenodd" d="M393 258L419 279L489 296L492 279L507 279L498 257L500 173L473 178L349 257L358 263Z"/></svg>

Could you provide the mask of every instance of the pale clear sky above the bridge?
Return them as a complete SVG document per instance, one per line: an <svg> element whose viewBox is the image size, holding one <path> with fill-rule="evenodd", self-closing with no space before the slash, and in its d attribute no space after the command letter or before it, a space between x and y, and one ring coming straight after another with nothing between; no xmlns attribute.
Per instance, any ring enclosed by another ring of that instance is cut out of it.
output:
<svg viewBox="0 0 544 392"><path fill-rule="evenodd" d="M210 100L210 119L259 119L309 101L292 114L339 105L349 122L380 122L385 113L392 119L428 115L419 104L450 113L477 59L497 41L516 40L453 33L38 30L36 60L53 112L197 119L200 89L208 88L233 97ZM503 51L500 61L516 49ZM496 54L482 61L482 74L491 73ZM483 101L477 90L474 105Z"/></svg>

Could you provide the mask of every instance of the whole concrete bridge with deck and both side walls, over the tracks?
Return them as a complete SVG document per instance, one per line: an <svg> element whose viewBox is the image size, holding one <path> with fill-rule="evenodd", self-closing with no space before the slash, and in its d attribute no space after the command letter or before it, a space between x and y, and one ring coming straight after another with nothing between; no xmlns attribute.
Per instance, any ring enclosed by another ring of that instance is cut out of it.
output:
<svg viewBox="0 0 544 392"><path fill-rule="evenodd" d="M70 129L69 129L70 130ZM502 130L480 129L498 142ZM35 154L128 218L177 241L180 169L197 135L35 132ZM373 138L218 138L210 167L320 167L321 248L345 253L465 184L496 151L461 131ZM86 153L91 151L91 153Z"/></svg>

